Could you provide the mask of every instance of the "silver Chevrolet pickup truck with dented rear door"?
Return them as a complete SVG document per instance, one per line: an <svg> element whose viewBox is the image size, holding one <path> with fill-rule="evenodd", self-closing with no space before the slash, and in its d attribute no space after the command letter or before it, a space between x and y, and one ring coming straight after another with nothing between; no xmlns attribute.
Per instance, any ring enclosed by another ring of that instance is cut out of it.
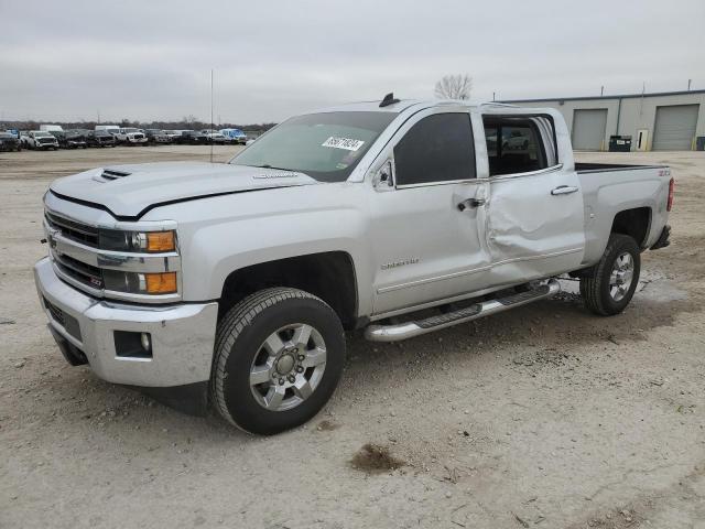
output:
<svg viewBox="0 0 705 529"><path fill-rule="evenodd" d="M389 95L291 118L229 163L57 180L34 273L70 364L272 434L328 400L345 331L411 338L561 274L621 312L672 196L668 168L575 163L555 110Z"/></svg>

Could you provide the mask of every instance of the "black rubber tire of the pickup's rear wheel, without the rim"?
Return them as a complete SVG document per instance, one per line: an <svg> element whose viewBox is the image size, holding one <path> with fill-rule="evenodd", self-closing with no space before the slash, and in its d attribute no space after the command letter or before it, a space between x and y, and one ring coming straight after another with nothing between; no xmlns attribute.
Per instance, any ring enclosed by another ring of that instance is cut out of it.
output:
<svg viewBox="0 0 705 529"><path fill-rule="evenodd" d="M629 253L633 262L633 273L629 289L623 296L616 301L610 291L610 276L615 261L622 253ZM634 295L639 284L639 273L641 272L641 252L637 241L628 235L611 234L605 248L605 253L599 262L594 267L589 276L581 278L581 295L585 306L600 316L612 316L622 312L631 298Z"/></svg>

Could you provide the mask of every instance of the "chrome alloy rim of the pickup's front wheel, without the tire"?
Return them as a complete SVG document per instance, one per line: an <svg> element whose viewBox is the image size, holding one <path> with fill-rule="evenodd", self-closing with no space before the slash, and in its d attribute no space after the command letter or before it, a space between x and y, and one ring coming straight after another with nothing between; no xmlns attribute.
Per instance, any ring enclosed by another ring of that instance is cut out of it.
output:
<svg viewBox="0 0 705 529"><path fill-rule="evenodd" d="M314 392L325 369L321 333L304 323L286 325L260 346L250 368L250 389L262 408L291 410Z"/></svg>

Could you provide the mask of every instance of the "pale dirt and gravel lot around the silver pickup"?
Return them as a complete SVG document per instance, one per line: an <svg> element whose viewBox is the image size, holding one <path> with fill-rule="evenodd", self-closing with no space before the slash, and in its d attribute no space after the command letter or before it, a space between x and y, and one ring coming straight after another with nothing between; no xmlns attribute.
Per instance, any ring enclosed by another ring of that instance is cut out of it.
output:
<svg viewBox="0 0 705 529"><path fill-rule="evenodd" d="M399 345L352 336L329 404L269 439L69 367L40 311L50 182L184 159L208 150L0 153L0 527L705 528L705 153L579 155L676 177L673 244L625 314L565 293Z"/></svg>

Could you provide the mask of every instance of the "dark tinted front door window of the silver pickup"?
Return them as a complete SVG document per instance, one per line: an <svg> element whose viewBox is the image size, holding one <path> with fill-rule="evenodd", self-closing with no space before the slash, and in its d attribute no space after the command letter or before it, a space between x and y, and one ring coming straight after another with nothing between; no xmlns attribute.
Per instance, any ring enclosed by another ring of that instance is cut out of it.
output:
<svg viewBox="0 0 705 529"><path fill-rule="evenodd" d="M468 114L436 114L414 125L394 147L398 185L475 177Z"/></svg>

